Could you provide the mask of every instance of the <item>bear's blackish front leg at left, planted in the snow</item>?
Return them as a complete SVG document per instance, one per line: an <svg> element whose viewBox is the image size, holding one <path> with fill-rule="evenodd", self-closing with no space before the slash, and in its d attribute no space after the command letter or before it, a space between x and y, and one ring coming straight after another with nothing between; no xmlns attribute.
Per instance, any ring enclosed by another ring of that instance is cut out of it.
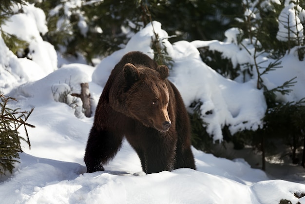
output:
<svg viewBox="0 0 305 204"><path fill-rule="evenodd" d="M93 126L87 141L84 162L87 173L104 171L103 164L108 163L122 145L122 136Z"/></svg>

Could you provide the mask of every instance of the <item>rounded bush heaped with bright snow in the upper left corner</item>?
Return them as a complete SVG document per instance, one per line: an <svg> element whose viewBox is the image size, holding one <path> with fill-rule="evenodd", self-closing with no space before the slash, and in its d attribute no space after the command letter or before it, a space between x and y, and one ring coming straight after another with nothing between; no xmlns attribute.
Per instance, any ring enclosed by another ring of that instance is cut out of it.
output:
<svg viewBox="0 0 305 204"><path fill-rule="evenodd" d="M43 11L22 2L22 5L12 4L9 7L11 11L0 24L0 88L4 93L18 84L41 79L57 69L57 54L53 45L40 36L48 31ZM16 44L16 39L26 43L27 47ZM10 50L12 46L6 44L8 42L14 44L16 52Z"/></svg>

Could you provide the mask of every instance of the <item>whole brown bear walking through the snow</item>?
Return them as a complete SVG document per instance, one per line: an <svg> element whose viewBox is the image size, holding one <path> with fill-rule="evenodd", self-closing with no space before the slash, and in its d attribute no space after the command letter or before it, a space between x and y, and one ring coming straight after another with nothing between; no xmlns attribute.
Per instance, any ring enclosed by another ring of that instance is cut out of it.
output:
<svg viewBox="0 0 305 204"><path fill-rule="evenodd" d="M138 51L127 53L115 65L87 141L87 172L103 171L124 136L147 174L195 169L188 113L168 75L167 66L158 66Z"/></svg>

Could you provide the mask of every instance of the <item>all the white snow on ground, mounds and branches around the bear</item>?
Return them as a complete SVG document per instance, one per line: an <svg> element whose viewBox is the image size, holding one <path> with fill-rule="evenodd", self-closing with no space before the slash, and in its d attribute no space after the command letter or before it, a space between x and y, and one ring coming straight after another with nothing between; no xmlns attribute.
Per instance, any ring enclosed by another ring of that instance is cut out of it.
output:
<svg viewBox="0 0 305 204"><path fill-rule="evenodd" d="M221 127L225 124L231 125L232 132L258 128L267 107L263 92L256 88L255 79L239 83L220 76L201 61L196 49L214 43L215 49L228 51L228 57L238 61L246 55L242 53L238 58L239 54L234 54L232 50L239 50L234 40L179 41L172 45L167 41L168 35L161 29L161 24L153 22L136 33L125 48L104 58L96 67L58 61L62 66L57 68L54 65L57 65L54 47L37 36L43 21L34 20L35 15L25 17L32 19L19 19L24 23L21 24L33 26L33 30L22 33L14 27L15 24L10 24L13 28L7 27L7 32L19 34L22 39L35 36L30 45L37 52L32 53L32 60L18 59L0 37L0 90L18 99L18 102L10 104L12 107L21 110L35 107L28 122L36 128L28 129L31 149L22 143L24 152L19 155L20 163L16 163L12 175L0 178L1 203L278 204L286 199L292 204L305 204L305 197L297 198L305 193L304 180L273 179L265 172L251 168L243 159L230 161L195 148L192 151L196 171L185 168L145 175L139 158L125 141L114 160L105 166L104 172L85 173L83 156L93 117L76 117L73 107L59 102L59 95L66 90L79 93L80 83L89 82L94 113L112 68L125 53L139 50L153 57L150 48L152 25L164 39L174 60L169 79L180 90L187 106L193 101L203 102L201 112L204 120L209 122L208 132L214 140L222 140ZM35 26L36 23L39 25ZM234 39L230 33L229 37ZM40 49L42 47L45 52ZM43 55L44 58L34 55ZM298 76L298 83L286 100L299 99L305 94L302 91L305 85L304 62L296 59L294 52L290 52L282 60L283 68L266 75L270 86ZM20 134L24 135L23 130Z"/></svg>

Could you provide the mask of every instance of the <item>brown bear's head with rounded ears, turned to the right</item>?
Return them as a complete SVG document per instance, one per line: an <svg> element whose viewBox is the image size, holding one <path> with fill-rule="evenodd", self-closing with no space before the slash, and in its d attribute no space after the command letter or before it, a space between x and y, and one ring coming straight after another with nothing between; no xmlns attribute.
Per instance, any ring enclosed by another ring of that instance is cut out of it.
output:
<svg viewBox="0 0 305 204"><path fill-rule="evenodd" d="M169 69L165 65L151 69L127 63L123 68L125 105L130 117L160 132L168 131L172 125L168 113L168 75Z"/></svg>

